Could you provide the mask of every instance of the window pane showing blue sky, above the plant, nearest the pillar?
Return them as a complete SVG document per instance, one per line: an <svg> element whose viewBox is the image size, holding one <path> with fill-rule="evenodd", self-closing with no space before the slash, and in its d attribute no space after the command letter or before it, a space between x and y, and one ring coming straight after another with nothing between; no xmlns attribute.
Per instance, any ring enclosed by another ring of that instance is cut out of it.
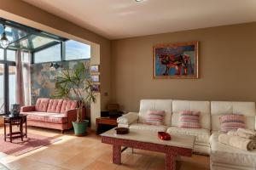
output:
<svg viewBox="0 0 256 170"><path fill-rule="evenodd" d="M66 59L90 59L90 45L68 40L66 42Z"/></svg>

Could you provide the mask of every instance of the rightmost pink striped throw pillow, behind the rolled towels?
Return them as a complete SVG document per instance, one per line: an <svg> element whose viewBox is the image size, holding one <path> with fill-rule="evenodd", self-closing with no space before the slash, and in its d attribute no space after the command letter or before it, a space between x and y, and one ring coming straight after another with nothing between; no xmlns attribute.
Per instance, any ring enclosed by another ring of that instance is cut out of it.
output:
<svg viewBox="0 0 256 170"><path fill-rule="evenodd" d="M220 128L222 132L229 132L230 130L237 130L238 128L245 128L245 117L243 115L224 115L219 117Z"/></svg>

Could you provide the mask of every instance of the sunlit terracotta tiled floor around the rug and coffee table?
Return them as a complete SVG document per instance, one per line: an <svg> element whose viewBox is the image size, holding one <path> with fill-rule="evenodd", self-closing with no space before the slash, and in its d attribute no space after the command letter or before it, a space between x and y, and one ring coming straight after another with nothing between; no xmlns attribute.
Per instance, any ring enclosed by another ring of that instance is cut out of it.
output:
<svg viewBox="0 0 256 170"><path fill-rule="evenodd" d="M3 128L0 127L0 133ZM112 146L102 144L101 138L90 132L86 137L76 137L72 132L30 127L28 133L54 136L61 141L21 156L8 156L0 152L0 170L161 170L165 169L164 154L146 150L125 150L122 165L112 163ZM0 146L1 147L1 146ZM180 170L209 169L209 157L193 155L182 157L177 163Z"/></svg>

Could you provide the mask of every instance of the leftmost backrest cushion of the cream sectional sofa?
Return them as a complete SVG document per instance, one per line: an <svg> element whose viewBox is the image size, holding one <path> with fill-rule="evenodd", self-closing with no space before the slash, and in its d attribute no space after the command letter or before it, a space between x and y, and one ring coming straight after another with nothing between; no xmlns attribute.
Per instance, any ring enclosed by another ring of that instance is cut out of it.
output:
<svg viewBox="0 0 256 170"><path fill-rule="evenodd" d="M172 99L142 99L138 122L145 122L147 111L165 111L164 124L171 125Z"/></svg>

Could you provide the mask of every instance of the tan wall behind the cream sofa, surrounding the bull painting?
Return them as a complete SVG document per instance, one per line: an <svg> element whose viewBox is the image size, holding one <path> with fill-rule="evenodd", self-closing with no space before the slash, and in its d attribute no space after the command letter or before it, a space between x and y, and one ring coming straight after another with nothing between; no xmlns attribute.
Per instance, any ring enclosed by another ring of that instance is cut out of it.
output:
<svg viewBox="0 0 256 170"><path fill-rule="evenodd" d="M256 102L256 22L112 42L113 101L138 111L140 99ZM200 41L199 79L153 79L152 46Z"/></svg>

